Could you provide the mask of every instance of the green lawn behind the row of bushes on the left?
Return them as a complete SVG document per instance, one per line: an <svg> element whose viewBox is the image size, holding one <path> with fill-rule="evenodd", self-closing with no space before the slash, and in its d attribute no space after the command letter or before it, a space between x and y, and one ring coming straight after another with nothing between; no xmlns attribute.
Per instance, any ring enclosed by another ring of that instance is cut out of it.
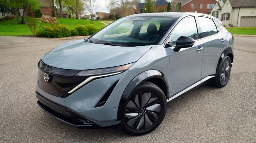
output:
<svg viewBox="0 0 256 143"><path fill-rule="evenodd" d="M90 20L85 19L66 19L66 18L57 18L57 21L61 25L65 25L70 29L75 28L78 25L89 25ZM36 20L36 31L38 28L38 20ZM96 28L104 27L105 24L102 24L98 21L93 21L93 24ZM21 36L21 35L32 35L28 25L17 24L16 19L11 21L1 21L0 22L0 36Z"/></svg>

